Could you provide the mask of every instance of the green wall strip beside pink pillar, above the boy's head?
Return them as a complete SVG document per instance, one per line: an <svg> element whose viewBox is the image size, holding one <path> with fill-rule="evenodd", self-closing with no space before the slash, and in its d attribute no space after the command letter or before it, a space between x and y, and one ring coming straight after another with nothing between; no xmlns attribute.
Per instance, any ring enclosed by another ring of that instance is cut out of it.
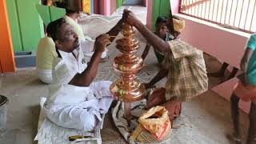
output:
<svg viewBox="0 0 256 144"><path fill-rule="evenodd" d="M153 0L152 2L152 30L155 30L155 22L158 16L168 17L170 13L170 0Z"/></svg>

